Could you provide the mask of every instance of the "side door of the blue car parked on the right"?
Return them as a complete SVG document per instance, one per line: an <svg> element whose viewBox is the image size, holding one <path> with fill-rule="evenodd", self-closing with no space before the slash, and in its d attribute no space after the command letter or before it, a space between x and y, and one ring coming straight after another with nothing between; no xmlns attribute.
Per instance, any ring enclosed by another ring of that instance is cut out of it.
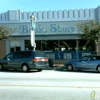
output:
<svg viewBox="0 0 100 100"><path fill-rule="evenodd" d="M82 59L80 59L77 62L77 68L78 69L89 69L91 66L90 59L91 59L91 57L89 57L89 56L85 56Z"/></svg>

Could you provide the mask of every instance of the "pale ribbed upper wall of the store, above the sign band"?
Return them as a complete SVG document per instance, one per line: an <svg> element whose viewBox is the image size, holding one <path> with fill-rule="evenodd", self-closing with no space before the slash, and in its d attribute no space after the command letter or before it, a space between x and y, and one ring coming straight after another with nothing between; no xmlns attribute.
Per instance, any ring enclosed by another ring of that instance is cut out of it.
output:
<svg viewBox="0 0 100 100"><path fill-rule="evenodd" d="M75 21L75 20L95 20L98 15L95 9L74 9L74 10L58 10L58 11L33 11L22 12L21 10L8 10L7 12L0 13L0 23L20 23L29 22L30 15L37 18L37 22L48 21ZM100 11L99 11L100 13Z"/></svg>

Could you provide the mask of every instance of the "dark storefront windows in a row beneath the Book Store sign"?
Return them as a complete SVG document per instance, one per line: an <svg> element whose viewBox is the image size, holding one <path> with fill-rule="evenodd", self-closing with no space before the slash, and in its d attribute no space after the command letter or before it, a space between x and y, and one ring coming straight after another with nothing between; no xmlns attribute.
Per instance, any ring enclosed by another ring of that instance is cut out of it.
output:
<svg viewBox="0 0 100 100"><path fill-rule="evenodd" d="M36 50L41 51L95 51L95 46L89 43L86 47L85 41L78 40L36 40ZM84 47L84 48L83 48ZM33 50L30 40L25 40L25 50Z"/></svg>

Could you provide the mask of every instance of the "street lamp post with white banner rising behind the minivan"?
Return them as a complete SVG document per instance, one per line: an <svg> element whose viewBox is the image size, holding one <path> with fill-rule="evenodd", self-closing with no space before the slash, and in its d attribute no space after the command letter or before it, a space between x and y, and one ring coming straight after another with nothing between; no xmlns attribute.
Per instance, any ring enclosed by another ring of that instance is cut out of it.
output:
<svg viewBox="0 0 100 100"><path fill-rule="evenodd" d="M36 18L31 15L31 46L33 47L33 50L35 51L36 43L35 43L35 28L36 28Z"/></svg>

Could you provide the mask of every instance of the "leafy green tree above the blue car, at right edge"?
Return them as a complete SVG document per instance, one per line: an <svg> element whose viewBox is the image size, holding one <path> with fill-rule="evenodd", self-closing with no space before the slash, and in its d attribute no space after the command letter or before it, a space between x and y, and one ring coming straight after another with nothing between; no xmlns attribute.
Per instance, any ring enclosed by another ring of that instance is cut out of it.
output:
<svg viewBox="0 0 100 100"><path fill-rule="evenodd" d="M100 44L100 25L99 22L88 21L78 24L78 28L81 30L79 37L86 41L83 47L86 47L89 43L95 43L96 53L98 53L98 45Z"/></svg>

